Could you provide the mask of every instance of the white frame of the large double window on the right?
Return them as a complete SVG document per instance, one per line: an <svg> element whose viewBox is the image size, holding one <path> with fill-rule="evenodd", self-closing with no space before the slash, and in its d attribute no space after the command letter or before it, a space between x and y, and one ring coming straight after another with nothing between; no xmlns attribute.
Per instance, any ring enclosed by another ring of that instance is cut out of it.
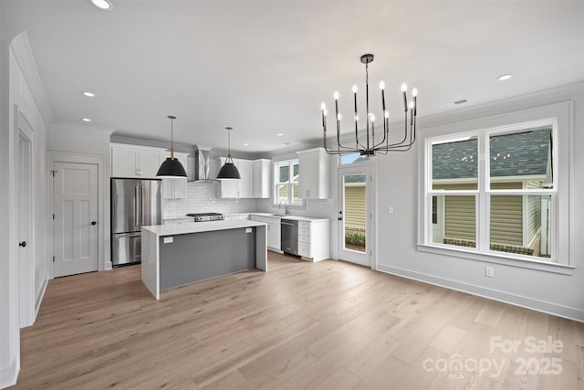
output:
<svg viewBox="0 0 584 390"><path fill-rule="evenodd" d="M570 246L569 230L573 221L569 218L569 204L573 196L569 195L570 177L573 172L572 162L573 123L570 112L571 101L549 106L516 111L482 120L462 122L452 126L436 128L436 135L425 138L419 145L421 158L420 177L420 226L418 250L440 253L460 258L475 259L500 263L521 268L541 269L550 272L572 274L574 262L573 248ZM552 125L552 177L553 188L541 189L491 189L490 184L490 147L491 135L501 132L518 131L537 127L542 124ZM472 130L470 130L472 129ZM458 130L458 132L456 132ZM469 131L470 130L470 131ZM430 132L428 132L430 133ZM432 145L434 142L457 141L463 137L478 136L478 185L476 190L433 190L432 186ZM475 195L475 232L476 248L456 247L433 243L433 196L439 195ZM552 254L549 259L529 255L518 255L490 249L490 205L493 195L551 195L552 213Z"/></svg>

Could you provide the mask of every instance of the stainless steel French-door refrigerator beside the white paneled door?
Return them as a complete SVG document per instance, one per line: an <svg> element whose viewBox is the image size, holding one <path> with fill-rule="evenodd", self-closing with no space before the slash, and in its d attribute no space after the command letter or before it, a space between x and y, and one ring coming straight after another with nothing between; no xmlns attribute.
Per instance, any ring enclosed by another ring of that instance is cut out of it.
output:
<svg viewBox="0 0 584 390"><path fill-rule="evenodd" d="M111 178L111 263L141 262L141 227L162 224L162 181Z"/></svg>

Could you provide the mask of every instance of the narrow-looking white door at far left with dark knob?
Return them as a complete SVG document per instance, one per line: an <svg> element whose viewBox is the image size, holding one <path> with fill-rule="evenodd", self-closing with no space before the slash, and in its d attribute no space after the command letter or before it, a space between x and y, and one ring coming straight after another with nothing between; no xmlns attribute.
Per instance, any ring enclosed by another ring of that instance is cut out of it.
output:
<svg viewBox="0 0 584 390"><path fill-rule="evenodd" d="M35 321L35 266L33 258L33 132L22 116L18 118L18 300L20 327Z"/></svg>

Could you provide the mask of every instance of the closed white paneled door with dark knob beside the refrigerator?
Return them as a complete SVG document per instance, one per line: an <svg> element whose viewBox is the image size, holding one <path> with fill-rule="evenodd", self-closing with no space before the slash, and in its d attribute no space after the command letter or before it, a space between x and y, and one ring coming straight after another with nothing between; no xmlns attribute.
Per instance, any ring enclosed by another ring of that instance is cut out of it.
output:
<svg viewBox="0 0 584 390"><path fill-rule="evenodd" d="M53 165L54 275L98 270L98 164Z"/></svg>

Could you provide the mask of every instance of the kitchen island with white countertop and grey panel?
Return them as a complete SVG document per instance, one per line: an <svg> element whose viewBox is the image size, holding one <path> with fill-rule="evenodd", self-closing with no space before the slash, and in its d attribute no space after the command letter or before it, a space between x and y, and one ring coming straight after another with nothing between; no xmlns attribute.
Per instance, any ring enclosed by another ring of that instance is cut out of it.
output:
<svg viewBox="0 0 584 390"><path fill-rule="evenodd" d="M245 269L267 270L266 224L209 221L141 228L141 279L161 290Z"/></svg>

